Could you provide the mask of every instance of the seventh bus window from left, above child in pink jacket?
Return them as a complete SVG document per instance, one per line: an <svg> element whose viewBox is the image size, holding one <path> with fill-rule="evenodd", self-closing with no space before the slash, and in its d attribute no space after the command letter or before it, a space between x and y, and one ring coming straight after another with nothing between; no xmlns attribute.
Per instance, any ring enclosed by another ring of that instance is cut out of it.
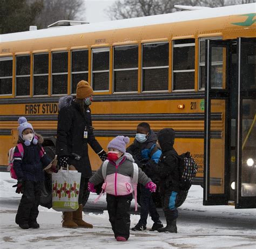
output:
<svg viewBox="0 0 256 249"><path fill-rule="evenodd" d="M114 92L138 92L138 45L114 47Z"/></svg>

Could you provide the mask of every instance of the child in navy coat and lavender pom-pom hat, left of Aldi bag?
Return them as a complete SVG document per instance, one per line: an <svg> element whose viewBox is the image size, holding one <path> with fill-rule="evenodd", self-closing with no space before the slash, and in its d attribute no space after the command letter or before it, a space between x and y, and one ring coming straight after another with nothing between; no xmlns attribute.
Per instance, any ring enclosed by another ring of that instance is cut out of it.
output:
<svg viewBox="0 0 256 249"><path fill-rule="evenodd" d="M51 160L42 149L42 136L35 134L26 118L20 117L18 123L18 143L22 144L23 153L16 146L14 170L18 179L16 192L23 195L15 222L22 229L38 229L37 216L44 181L43 168L49 165Z"/></svg>

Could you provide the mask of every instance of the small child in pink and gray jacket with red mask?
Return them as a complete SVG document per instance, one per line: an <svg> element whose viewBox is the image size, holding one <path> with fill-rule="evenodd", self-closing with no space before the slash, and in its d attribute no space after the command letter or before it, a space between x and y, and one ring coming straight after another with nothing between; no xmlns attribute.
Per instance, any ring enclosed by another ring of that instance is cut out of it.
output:
<svg viewBox="0 0 256 249"><path fill-rule="evenodd" d="M133 177L134 160L129 153L125 152L129 140L129 137L117 136L107 146L109 163L107 163L103 189L107 194L107 211L117 241L126 241L130 237L129 210L133 191L131 178ZM94 186L104 181L102 165L89 179L88 189L91 192L96 192ZM138 170L138 182L151 192L155 192L156 184L140 168Z"/></svg>

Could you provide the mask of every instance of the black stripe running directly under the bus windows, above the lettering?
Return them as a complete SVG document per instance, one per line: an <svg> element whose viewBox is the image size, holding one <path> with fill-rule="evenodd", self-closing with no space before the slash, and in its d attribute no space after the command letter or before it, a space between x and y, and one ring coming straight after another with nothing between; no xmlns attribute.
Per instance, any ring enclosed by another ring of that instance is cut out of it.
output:
<svg viewBox="0 0 256 249"><path fill-rule="evenodd" d="M136 93L136 94L107 94L94 95L93 102L109 101L143 101L143 100L172 100L172 99L204 99L204 92L191 93ZM34 98L9 98L0 99L0 105L15 103L58 103L60 96L34 97Z"/></svg>

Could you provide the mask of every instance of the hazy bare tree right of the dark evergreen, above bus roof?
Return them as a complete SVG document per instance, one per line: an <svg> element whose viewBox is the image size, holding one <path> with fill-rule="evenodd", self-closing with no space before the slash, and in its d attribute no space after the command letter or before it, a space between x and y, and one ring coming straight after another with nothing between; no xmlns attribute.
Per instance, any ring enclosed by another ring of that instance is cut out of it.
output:
<svg viewBox="0 0 256 249"><path fill-rule="evenodd" d="M36 0L27 0L30 4ZM46 28L57 20L85 20L84 0L42 0L44 8L37 15L36 24L39 29ZM82 17L82 18L81 18Z"/></svg>

